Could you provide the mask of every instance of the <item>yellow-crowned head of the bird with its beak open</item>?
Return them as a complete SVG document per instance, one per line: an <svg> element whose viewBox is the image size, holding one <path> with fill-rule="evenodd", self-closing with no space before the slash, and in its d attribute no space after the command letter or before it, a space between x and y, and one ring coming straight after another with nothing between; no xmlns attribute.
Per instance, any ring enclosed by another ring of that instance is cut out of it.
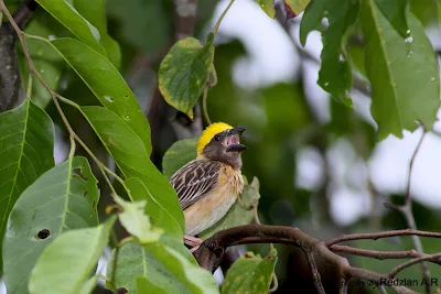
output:
<svg viewBox="0 0 441 294"><path fill-rule="evenodd" d="M245 128L233 128L225 122L209 124L197 142L197 159L220 161L240 170L240 152L247 146L240 144L240 135Z"/></svg>

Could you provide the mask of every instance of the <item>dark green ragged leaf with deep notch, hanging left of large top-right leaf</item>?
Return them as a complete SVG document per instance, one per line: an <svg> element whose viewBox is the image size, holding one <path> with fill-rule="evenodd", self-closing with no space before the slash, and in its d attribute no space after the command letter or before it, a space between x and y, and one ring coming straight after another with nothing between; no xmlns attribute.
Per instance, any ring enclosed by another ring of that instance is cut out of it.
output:
<svg viewBox="0 0 441 294"><path fill-rule="evenodd" d="M352 100L348 97L352 88L352 72L342 43L347 29L357 20L358 10L358 1L312 1L300 25L300 41L304 46L308 34L321 25L323 18L327 18L329 26L322 32L322 65L318 83L325 91L348 107L352 107Z"/></svg>

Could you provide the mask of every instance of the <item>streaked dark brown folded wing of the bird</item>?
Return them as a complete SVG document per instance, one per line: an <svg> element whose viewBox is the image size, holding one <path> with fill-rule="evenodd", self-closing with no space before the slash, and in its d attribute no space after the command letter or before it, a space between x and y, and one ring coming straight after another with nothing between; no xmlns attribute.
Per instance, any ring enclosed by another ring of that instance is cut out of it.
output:
<svg viewBox="0 0 441 294"><path fill-rule="evenodd" d="M194 160L170 177L182 209L196 203L215 187L220 167L222 164L217 161Z"/></svg>

